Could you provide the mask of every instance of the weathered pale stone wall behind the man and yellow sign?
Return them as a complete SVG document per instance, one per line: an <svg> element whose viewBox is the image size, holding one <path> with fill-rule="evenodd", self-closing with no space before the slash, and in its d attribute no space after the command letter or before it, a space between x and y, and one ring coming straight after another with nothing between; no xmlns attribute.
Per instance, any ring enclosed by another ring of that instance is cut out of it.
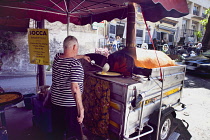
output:
<svg viewBox="0 0 210 140"><path fill-rule="evenodd" d="M33 28L33 25L30 25ZM69 35L75 36L79 41L79 54L95 52L99 39L103 38L103 28L92 30L91 25L76 26L69 25ZM45 29L49 29L50 60L56 53L63 51L63 40L67 36L67 25L60 22L49 23L45 21ZM14 53L2 58L2 70L4 72L36 72L36 65L29 62L28 36L27 33L15 33L13 42L17 46ZM47 68L48 66L46 66Z"/></svg>

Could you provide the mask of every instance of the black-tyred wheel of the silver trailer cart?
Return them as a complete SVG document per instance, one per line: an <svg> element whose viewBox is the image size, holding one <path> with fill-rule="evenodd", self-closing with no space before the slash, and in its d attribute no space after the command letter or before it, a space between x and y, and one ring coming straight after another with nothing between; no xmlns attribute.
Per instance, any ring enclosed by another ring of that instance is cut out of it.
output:
<svg viewBox="0 0 210 140"><path fill-rule="evenodd" d="M173 116L170 114L161 118L160 120L160 129L159 129L159 136L158 140L167 140L171 134L171 128L173 125ZM157 134L157 126L155 127L155 131L152 134L152 139L156 139Z"/></svg>

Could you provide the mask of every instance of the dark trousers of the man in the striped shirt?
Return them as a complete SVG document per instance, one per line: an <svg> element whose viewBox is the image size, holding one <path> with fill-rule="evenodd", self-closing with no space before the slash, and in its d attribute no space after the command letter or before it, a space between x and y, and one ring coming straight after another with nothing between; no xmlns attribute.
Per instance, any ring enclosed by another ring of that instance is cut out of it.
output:
<svg viewBox="0 0 210 140"><path fill-rule="evenodd" d="M77 107L52 105L53 140L81 139L81 129L77 121ZM65 135L66 134L66 137Z"/></svg>

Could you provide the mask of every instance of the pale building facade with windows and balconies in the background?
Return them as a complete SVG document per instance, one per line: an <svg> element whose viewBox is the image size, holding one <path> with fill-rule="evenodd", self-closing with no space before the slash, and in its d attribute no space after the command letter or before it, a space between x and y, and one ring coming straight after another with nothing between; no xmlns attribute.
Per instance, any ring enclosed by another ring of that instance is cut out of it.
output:
<svg viewBox="0 0 210 140"><path fill-rule="evenodd" d="M152 39L161 43L162 40L169 46L187 45L189 42L195 44L202 40L196 32L201 31L204 34L204 27L200 21L206 17L205 10L210 8L210 0L187 0L189 14L181 18L166 17L158 22L147 22ZM105 27L109 37L120 36L126 38L126 19L113 20L107 23ZM142 18L141 9L137 7L136 14L136 44L151 44L148 31Z"/></svg>

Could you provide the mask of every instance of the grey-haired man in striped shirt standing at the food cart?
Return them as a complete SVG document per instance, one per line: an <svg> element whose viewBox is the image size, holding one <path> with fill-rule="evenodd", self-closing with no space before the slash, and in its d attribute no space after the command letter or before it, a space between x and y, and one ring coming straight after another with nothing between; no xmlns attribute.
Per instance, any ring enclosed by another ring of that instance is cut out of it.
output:
<svg viewBox="0 0 210 140"><path fill-rule="evenodd" d="M81 139L80 125L84 118L82 104L84 71L79 60L90 58L78 54L78 41L68 36L63 42L64 53L56 54L52 66L52 128L53 139Z"/></svg>

